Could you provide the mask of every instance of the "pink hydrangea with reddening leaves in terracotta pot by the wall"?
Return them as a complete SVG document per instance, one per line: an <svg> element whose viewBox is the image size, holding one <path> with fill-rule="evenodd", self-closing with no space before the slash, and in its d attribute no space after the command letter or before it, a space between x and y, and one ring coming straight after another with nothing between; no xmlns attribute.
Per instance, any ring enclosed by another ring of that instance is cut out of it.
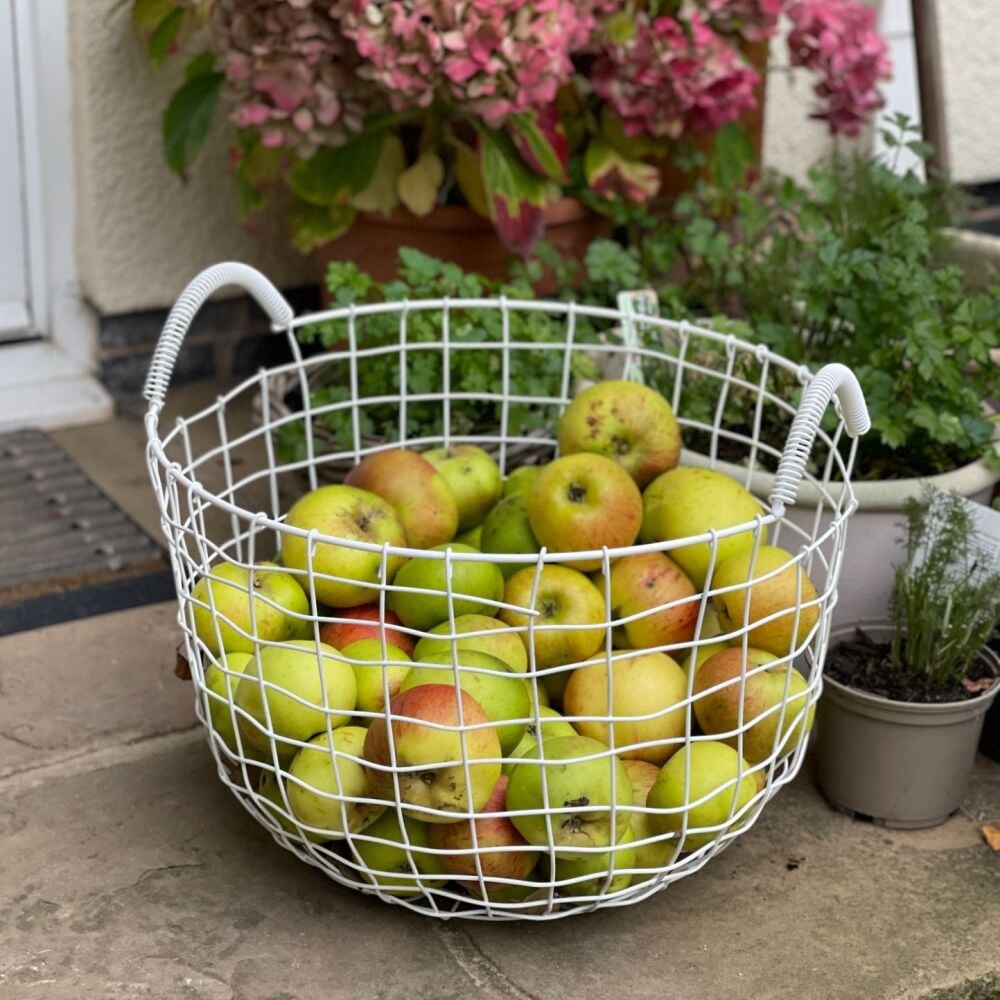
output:
<svg viewBox="0 0 1000 1000"><path fill-rule="evenodd" d="M241 210L276 191L293 239L386 280L412 245L503 273L649 202L688 139L751 111L781 14L791 62L848 134L888 73L860 0L135 0L150 53L201 43L163 120L182 174L220 108ZM207 27L207 32L199 32ZM204 41L207 38L207 41ZM724 133L720 162L740 148ZM350 242L338 237L350 232ZM495 234L495 235L494 235Z"/></svg>

